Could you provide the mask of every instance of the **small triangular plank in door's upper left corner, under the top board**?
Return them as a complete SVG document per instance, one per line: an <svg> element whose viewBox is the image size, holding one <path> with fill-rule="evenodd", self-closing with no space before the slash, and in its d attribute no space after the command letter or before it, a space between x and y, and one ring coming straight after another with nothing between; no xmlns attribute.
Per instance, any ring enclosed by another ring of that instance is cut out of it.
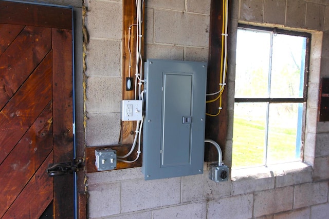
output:
<svg viewBox="0 0 329 219"><path fill-rule="evenodd" d="M23 28L24 25L0 24L0 56Z"/></svg>

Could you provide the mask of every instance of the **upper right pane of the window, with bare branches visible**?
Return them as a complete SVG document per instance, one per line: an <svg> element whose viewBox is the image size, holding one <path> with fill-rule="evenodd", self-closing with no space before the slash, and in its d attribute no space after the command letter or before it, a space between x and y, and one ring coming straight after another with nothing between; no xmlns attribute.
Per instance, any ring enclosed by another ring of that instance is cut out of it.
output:
<svg viewBox="0 0 329 219"><path fill-rule="evenodd" d="M273 35L271 98L303 97L306 37Z"/></svg>

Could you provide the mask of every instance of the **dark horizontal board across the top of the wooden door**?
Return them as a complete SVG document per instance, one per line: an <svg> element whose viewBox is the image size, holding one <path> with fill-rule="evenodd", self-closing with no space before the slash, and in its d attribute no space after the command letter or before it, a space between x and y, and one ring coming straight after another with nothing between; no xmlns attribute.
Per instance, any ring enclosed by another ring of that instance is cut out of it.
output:
<svg viewBox="0 0 329 219"><path fill-rule="evenodd" d="M0 23L72 29L72 9L0 1Z"/></svg>

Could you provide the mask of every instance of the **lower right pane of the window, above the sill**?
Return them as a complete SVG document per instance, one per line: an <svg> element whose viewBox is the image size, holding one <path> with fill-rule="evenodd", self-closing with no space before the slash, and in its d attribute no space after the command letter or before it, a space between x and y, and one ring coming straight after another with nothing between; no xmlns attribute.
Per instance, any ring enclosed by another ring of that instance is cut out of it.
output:
<svg viewBox="0 0 329 219"><path fill-rule="evenodd" d="M296 158L297 133L301 131L298 120L302 120L302 107L299 108L299 105L302 104L269 105L267 164L299 160L299 151Z"/></svg>

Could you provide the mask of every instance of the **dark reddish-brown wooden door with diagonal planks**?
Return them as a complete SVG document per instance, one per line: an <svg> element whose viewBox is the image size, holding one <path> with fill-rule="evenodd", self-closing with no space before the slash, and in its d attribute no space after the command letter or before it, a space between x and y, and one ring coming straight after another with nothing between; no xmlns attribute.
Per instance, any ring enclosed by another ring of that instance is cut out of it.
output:
<svg viewBox="0 0 329 219"><path fill-rule="evenodd" d="M0 1L0 218L74 217L72 9Z"/></svg>

